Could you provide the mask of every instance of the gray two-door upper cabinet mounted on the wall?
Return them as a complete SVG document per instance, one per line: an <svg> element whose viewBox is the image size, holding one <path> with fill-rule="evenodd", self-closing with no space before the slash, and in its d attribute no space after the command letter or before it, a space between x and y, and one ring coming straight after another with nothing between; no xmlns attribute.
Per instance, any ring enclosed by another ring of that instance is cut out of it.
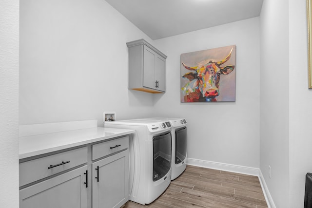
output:
<svg viewBox="0 0 312 208"><path fill-rule="evenodd" d="M165 93L166 58L144 39L127 43L128 89L148 93Z"/></svg>

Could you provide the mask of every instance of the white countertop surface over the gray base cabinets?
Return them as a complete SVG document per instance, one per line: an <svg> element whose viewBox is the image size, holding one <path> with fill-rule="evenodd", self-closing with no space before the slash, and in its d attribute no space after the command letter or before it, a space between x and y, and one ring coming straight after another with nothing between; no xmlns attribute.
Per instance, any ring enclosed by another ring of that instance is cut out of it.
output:
<svg viewBox="0 0 312 208"><path fill-rule="evenodd" d="M20 159L124 136L134 132L134 130L127 129L97 127L22 136L19 137Z"/></svg>

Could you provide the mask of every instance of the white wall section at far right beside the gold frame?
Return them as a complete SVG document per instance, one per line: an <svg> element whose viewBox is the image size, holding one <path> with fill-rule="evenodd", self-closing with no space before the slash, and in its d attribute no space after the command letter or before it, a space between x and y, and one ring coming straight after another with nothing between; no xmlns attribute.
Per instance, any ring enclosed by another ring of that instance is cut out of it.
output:
<svg viewBox="0 0 312 208"><path fill-rule="evenodd" d="M289 0L290 208L304 205L305 174L312 172L312 90L308 89L306 0Z"/></svg>

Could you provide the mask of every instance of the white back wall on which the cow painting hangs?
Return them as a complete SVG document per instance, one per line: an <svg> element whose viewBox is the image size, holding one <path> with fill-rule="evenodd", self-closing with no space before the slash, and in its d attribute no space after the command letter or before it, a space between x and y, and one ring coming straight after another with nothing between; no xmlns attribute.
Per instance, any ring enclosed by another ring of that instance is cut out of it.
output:
<svg viewBox="0 0 312 208"><path fill-rule="evenodd" d="M180 103L180 54L227 45L236 45L236 101ZM188 157L259 168L259 18L159 39L155 46L168 58L166 93L155 96L154 115L187 119Z"/></svg>

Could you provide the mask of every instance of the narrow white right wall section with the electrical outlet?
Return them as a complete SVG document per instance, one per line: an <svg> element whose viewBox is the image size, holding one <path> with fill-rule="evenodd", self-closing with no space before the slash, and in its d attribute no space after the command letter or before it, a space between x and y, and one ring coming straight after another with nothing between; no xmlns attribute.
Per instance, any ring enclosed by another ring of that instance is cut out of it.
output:
<svg viewBox="0 0 312 208"><path fill-rule="evenodd" d="M288 1L264 0L260 15L260 170L277 208L295 208L288 197L292 89L288 8Z"/></svg>

